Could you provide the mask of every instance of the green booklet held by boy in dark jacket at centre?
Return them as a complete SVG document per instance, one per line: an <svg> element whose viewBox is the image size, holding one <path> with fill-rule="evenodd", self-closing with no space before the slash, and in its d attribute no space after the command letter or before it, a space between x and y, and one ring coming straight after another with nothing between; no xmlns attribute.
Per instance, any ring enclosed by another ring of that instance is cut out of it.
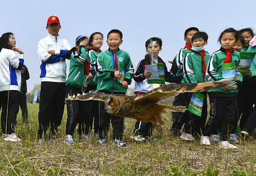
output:
<svg viewBox="0 0 256 176"><path fill-rule="evenodd" d="M148 84L165 84L163 63L145 65L145 67L146 72L152 73L151 77L147 78Z"/></svg>

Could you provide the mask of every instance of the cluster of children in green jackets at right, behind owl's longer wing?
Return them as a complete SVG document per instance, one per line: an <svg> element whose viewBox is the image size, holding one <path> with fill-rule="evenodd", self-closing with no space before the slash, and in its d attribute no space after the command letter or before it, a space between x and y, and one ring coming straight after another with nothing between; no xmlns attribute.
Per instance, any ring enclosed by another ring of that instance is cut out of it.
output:
<svg viewBox="0 0 256 176"><path fill-rule="evenodd" d="M209 55L205 51L208 36L205 32L199 32L197 28L189 28L185 31L186 45L177 54L174 63L177 63L177 73L183 73L184 78L181 83L196 83L205 81L217 81L229 78L223 67L233 67L234 81L224 89L201 92L205 96L202 106L201 117L189 111L185 113L173 113L173 123L170 131L175 136L180 136L184 140L195 140L199 138L202 145L218 143L222 148L234 149L239 143L239 137L235 134L239 118L242 128L241 136L249 137L255 126L255 109L253 108L253 91L251 86L242 86L243 81L253 80L253 65L244 73L244 77L239 72L240 54L246 52L249 41L253 37L250 28L240 31L228 28L224 30L218 41L221 48ZM250 46L250 48L252 48ZM252 51L252 50L249 50ZM175 64L174 64L175 65ZM231 66L230 66L231 65ZM172 68L175 71L175 67ZM240 91L244 89L243 91ZM250 89L250 90L249 90ZM246 92L245 92L246 90ZM209 119L207 119L206 95L209 97ZM185 105L188 107L193 94L183 93L175 97L175 105ZM251 97L249 97L251 96ZM244 101L246 99L246 101ZM248 101L247 101L248 100ZM244 124L244 121L246 124ZM206 124L205 124L206 122ZM243 122L243 123L241 123ZM181 133L181 128L183 132ZM232 143L232 144L231 144Z"/></svg>

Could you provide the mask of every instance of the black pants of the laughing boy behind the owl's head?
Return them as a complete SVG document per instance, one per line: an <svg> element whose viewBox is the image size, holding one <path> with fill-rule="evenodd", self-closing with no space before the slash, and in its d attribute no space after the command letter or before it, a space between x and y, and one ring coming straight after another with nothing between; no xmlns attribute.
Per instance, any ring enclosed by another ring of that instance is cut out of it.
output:
<svg viewBox="0 0 256 176"><path fill-rule="evenodd" d="M124 94L124 93L118 93ZM110 129L110 120L113 128L113 139L122 140L124 131L124 119L122 117L116 117L108 114L105 111L105 103L100 101L99 103L99 138L104 139L108 137Z"/></svg>

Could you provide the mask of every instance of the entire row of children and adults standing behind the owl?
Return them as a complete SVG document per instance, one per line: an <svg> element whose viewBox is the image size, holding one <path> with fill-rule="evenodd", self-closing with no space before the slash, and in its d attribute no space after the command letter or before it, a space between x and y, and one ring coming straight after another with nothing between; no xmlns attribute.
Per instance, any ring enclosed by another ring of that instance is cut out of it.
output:
<svg viewBox="0 0 256 176"><path fill-rule="evenodd" d="M119 49L123 42L121 31L114 29L108 33L106 42L109 49L101 52L103 34L100 32L95 32L90 37L78 36L75 40L75 47L71 48L67 40L59 38L58 31L60 28L58 17L50 16L47 21L49 34L38 43L38 55L42 60L40 65L41 101L38 113L39 141L51 140L52 136L46 135L49 126L51 126L52 134L58 138L57 127L62 119L64 102L57 103L56 96L62 100L62 94L65 90L66 97L77 96L92 90L105 94L125 95L132 79L135 80L134 93L136 95L145 94L153 89L153 84L147 83L147 78L151 77L152 73L146 71L146 65L156 63L163 63L166 82L180 84L227 79L230 78L230 75L226 74L225 69L232 68L233 81L229 86L224 89L200 92L205 97L202 100L201 116L188 110L179 113L173 112L174 123L170 128L173 135L189 141L198 138L202 145L218 143L222 148L234 149L238 148L233 144L239 143L236 131L241 115L240 127L242 131L240 135L242 137L250 137L256 128L256 108L253 106L256 103L256 95L254 94L256 60L253 60L250 69L245 71L243 77L239 71L239 52L256 52L256 37L253 37L250 28L240 31L233 28L225 29L218 39L221 48L211 55L205 50L208 35L205 32L200 32L198 28L188 28L184 33L185 47L178 52L173 61L171 69L173 73L167 71L166 64L158 56L162 50L162 40L158 37L152 37L145 42L146 54L144 59L139 61L134 73L129 53ZM12 33L2 36L1 49L0 56L3 57L3 64L0 65L7 65L6 68L9 68L8 63L12 63L9 71L11 77L1 76L1 79L8 78L11 81L9 86L0 86L1 98L4 102L2 129L7 131L5 134L7 141L20 141L14 133L18 106L12 98L20 91L20 81L14 81L12 74L15 78L20 76L19 70L23 67L24 53L16 48ZM20 56L16 56L14 51L18 52ZM65 59L70 60L67 81L66 72L64 72L66 70ZM56 64L58 67L55 67ZM61 72L56 70L60 66ZM123 79L120 82L121 77ZM8 98L6 98L7 95ZM175 97L173 105L188 107L193 96L193 93L179 94ZM210 111L209 119L206 122L208 115L207 96L209 97ZM13 108L13 111L8 114L8 123L5 124L6 119L4 117L7 113L5 101L8 99L9 109ZM77 124L79 139L90 139L89 134L94 121L94 138L98 139L97 143L103 145L107 141L111 121L113 144L126 146L123 141L124 118L106 113L104 102L67 100L67 114L65 143L69 145L75 143L73 137ZM137 121L131 138L136 141L150 140L153 130L154 126L151 122Z"/></svg>

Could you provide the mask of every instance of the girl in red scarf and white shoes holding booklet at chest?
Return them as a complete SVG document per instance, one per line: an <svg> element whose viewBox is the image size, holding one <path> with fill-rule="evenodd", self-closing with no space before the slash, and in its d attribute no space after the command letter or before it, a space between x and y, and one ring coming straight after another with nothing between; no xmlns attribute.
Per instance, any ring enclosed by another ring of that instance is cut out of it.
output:
<svg viewBox="0 0 256 176"><path fill-rule="evenodd" d="M220 50L212 53L206 70L206 81L237 77L236 81L224 89L208 91L210 101L209 120L203 129L201 144L210 145L209 135L217 132L220 135L219 145L225 149L238 148L230 144L228 135L234 125L237 111L237 92L241 85L242 76L237 67L240 62L239 53L233 51L233 46L238 39L238 32L233 28L224 30L219 41Z"/></svg>

